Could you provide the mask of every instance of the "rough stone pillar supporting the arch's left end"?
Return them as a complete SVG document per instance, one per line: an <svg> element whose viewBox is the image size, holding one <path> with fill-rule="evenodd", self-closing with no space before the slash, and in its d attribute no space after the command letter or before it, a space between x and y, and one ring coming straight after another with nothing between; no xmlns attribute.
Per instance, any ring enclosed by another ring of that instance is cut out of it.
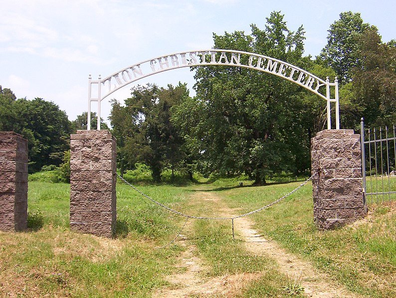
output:
<svg viewBox="0 0 396 298"><path fill-rule="evenodd" d="M107 130L70 136L70 228L112 237L116 223L116 140Z"/></svg>

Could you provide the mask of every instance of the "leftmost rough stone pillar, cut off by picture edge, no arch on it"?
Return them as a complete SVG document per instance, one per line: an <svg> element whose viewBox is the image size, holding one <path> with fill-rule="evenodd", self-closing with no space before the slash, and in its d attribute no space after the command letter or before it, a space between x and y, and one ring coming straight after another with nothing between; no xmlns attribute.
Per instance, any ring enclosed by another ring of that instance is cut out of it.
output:
<svg viewBox="0 0 396 298"><path fill-rule="evenodd" d="M0 230L27 228L27 140L0 131Z"/></svg>

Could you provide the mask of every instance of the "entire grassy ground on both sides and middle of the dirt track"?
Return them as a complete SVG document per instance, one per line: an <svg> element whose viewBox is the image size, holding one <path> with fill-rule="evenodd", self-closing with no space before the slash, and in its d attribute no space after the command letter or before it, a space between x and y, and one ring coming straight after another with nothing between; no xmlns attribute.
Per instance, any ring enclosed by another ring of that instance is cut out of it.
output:
<svg viewBox="0 0 396 298"><path fill-rule="evenodd" d="M261 207L299 183L236 187L237 181L210 185L139 186L150 197L192 215L218 212L215 203L193 200L210 191L239 213ZM29 182L29 230L0 232L0 297L151 297L169 286L177 257L176 242L184 218L117 184L117 237L98 238L69 231L69 185ZM395 201L393 201L396 204ZM335 281L365 297L396 297L396 213L389 205L370 204L370 220L335 231L313 224L310 184L292 197L250 217L265 237L302 256ZM237 220L237 219L236 219ZM240 297L299 297L284 291L287 277L273 260L248 254L232 240L229 221L192 220L191 245L209 268L208 276L261 272L244 284Z"/></svg>

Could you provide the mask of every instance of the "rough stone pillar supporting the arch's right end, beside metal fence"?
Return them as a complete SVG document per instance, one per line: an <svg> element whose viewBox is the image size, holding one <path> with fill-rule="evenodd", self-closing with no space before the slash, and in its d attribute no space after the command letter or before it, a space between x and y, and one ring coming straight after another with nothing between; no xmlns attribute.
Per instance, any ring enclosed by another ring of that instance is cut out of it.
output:
<svg viewBox="0 0 396 298"><path fill-rule="evenodd" d="M360 135L328 129L311 142L314 220L332 229L365 216Z"/></svg>

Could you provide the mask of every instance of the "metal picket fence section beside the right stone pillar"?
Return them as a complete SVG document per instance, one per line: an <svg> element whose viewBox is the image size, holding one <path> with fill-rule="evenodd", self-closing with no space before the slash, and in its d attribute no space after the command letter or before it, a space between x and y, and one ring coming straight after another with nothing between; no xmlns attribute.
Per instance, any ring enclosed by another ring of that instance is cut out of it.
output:
<svg viewBox="0 0 396 298"><path fill-rule="evenodd" d="M362 177L365 206L396 198L396 128L387 126L365 130L360 123L362 146Z"/></svg>

